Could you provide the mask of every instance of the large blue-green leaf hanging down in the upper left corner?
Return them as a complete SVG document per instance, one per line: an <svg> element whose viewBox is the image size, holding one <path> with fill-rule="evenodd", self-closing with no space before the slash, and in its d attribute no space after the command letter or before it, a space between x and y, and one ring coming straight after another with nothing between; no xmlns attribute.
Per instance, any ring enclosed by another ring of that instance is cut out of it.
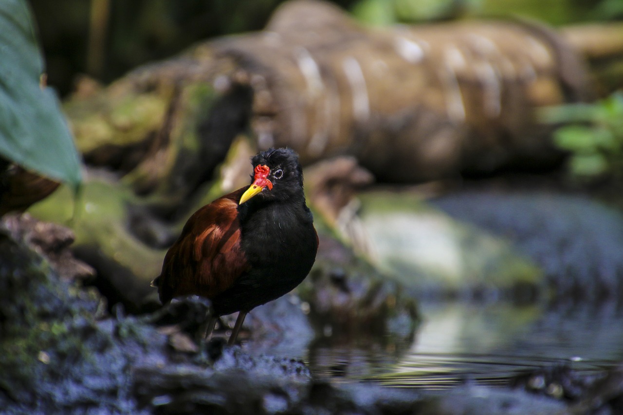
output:
<svg viewBox="0 0 623 415"><path fill-rule="evenodd" d="M80 159L44 72L25 0L0 0L0 155L77 187Z"/></svg>

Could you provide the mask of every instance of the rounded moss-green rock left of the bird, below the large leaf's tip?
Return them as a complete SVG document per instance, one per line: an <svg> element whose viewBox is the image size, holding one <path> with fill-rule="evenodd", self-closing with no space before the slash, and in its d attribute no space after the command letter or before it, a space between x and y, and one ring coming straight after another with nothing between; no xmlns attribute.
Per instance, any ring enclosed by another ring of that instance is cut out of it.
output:
<svg viewBox="0 0 623 415"><path fill-rule="evenodd" d="M155 292L150 282L160 274L164 250L146 246L130 232L127 206L131 203L138 203L137 198L123 183L91 172L78 201L62 186L29 212L52 222L73 217L69 222L75 233L72 250L97 272L92 284L111 305L122 303L126 310L139 312L146 297Z"/></svg>

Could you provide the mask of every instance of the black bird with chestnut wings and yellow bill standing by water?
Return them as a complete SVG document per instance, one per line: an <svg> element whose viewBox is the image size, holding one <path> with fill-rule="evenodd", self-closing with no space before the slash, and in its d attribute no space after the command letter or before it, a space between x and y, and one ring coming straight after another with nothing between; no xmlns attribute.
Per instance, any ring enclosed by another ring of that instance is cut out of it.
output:
<svg viewBox="0 0 623 415"><path fill-rule="evenodd" d="M209 298L214 313L207 333L217 317L239 312L229 345L252 308L305 279L318 250L297 153L270 148L251 163L251 186L194 212L152 283L163 304L183 295Z"/></svg>

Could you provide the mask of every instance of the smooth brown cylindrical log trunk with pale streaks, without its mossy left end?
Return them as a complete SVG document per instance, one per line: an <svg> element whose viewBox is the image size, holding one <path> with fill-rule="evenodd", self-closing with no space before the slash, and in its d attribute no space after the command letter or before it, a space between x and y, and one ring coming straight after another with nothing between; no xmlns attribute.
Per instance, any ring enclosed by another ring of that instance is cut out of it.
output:
<svg viewBox="0 0 623 415"><path fill-rule="evenodd" d="M551 163L549 126L535 108L589 92L571 47L521 23L370 31L332 6L298 1L264 34L206 46L255 79L260 148L292 146L306 161L351 154L388 181Z"/></svg>

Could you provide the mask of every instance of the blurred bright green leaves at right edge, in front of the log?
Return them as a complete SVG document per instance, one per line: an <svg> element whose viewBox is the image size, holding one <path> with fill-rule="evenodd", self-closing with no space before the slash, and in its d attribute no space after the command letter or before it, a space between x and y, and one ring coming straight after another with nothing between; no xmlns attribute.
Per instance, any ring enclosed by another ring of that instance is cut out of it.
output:
<svg viewBox="0 0 623 415"><path fill-rule="evenodd" d="M554 143L571 153L569 171L578 178L623 178L623 92L593 104L548 108L543 118L568 123Z"/></svg>

